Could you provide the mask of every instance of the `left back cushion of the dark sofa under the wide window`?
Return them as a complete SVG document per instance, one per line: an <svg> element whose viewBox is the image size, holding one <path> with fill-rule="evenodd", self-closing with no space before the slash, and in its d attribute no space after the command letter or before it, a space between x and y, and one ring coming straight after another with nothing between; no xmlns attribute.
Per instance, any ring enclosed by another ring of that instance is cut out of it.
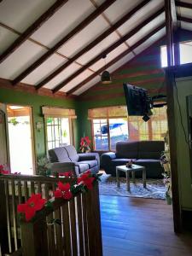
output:
<svg viewBox="0 0 192 256"><path fill-rule="evenodd" d="M118 142L116 143L117 158L137 159L138 143L137 142Z"/></svg>

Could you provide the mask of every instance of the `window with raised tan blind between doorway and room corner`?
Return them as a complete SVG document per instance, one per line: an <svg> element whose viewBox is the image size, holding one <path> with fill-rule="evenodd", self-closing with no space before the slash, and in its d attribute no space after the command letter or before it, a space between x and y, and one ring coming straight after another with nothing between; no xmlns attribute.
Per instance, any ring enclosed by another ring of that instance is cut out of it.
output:
<svg viewBox="0 0 192 256"><path fill-rule="evenodd" d="M43 107L47 149L73 144L73 109Z"/></svg>

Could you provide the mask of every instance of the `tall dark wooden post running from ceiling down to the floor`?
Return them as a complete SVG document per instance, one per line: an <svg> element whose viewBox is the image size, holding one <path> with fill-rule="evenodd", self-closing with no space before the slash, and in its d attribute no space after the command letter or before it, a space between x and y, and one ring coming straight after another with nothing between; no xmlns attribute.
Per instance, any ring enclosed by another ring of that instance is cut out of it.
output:
<svg viewBox="0 0 192 256"><path fill-rule="evenodd" d="M167 96L167 117L168 117L168 129L170 139L170 157L171 157L171 169L172 169L172 210L173 210L173 222L175 232L181 232L181 205L178 191L178 170L177 170L177 143L175 127L177 126L175 112L174 112L174 75L170 71L174 65L174 38L173 38L173 23L172 23L172 0L165 0L166 8L166 47L167 47L167 64L166 69L166 96Z"/></svg>

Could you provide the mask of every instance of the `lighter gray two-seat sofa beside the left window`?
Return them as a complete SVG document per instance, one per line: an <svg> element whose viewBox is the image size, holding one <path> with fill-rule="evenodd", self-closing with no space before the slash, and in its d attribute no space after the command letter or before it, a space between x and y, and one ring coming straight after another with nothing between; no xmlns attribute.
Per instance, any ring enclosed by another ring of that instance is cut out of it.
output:
<svg viewBox="0 0 192 256"><path fill-rule="evenodd" d="M72 145L49 149L49 159L53 163L52 172L73 171L77 176L90 170L97 173L100 168L100 158L97 153L78 154Z"/></svg>

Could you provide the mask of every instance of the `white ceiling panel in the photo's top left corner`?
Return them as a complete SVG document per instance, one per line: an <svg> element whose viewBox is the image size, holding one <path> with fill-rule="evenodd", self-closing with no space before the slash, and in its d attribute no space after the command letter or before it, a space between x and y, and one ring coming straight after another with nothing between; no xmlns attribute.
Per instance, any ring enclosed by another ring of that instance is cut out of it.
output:
<svg viewBox="0 0 192 256"><path fill-rule="evenodd" d="M4 0L0 3L0 21L24 32L55 0Z"/></svg>

